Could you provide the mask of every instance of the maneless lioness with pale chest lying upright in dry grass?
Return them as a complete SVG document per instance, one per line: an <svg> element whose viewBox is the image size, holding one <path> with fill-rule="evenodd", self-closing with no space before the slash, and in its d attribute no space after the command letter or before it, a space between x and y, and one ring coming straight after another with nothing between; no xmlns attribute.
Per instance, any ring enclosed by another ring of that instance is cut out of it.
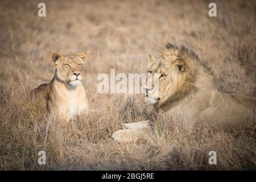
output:
<svg viewBox="0 0 256 182"><path fill-rule="evenodd" d="M88 98L81 84L82 64L88 60L85 52L63 55L53 52L50 60L55 64L55 75L47 83L32 90L33 96L53 118L68 122L75 114L88 110Z"/></svg>

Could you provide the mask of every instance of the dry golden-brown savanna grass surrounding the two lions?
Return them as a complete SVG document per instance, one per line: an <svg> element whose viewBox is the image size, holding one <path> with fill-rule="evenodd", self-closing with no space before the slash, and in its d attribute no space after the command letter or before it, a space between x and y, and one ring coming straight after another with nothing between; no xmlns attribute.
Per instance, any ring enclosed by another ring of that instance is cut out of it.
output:
<svg viewBox="0 0 256 182"><path fill-rule="evenodd" d="M214 1L0 2L0 169L256 169L255 132L207 126L189 134L168 115L151 117L142 94L100 94L99 73L146 72L147 56L170 42L193 49L220 88L256 95L256 2ZM53 77L52 51L89 52L83 84L90 107L64 129L28 93ZM135 143L110 136L121 123L151 118L155 132ZM47 164L38 164L46 151ZM209 165L209 151L217 165Z"/></svg>

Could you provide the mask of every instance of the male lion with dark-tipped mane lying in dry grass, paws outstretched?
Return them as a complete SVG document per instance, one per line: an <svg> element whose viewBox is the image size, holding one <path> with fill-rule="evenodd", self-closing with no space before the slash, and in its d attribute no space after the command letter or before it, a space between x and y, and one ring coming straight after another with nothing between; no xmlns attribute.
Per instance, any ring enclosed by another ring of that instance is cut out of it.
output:
<svg viewBox="0 0 256 182"><path fill-rule="evenodd" d="M181 121L186 130L192 131L199 122L236 130L255 126L256 98L218 89L213 75L194 52L168 43L159 56L150 56L149 61L147 82L152 84L144 84L145 101L166 109L172 120ZM152 81L156 73L158 80ZM112 137L124 142L138 138L142 135L142 124L145 128L150 122L123 124L125 130L116 131Z"/></svg>

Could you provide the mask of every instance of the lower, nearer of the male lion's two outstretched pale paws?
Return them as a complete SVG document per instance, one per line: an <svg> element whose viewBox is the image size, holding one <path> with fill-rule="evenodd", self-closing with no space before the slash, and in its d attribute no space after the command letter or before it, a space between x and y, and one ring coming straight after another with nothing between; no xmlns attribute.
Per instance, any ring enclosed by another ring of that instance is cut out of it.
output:
<svg viewBox="0 0 256 182"><path fill-rule="evenodd" d="M118 130L115 131L111 136L117 142L135 142L142 137L142 132L139 130Z"/></svg>

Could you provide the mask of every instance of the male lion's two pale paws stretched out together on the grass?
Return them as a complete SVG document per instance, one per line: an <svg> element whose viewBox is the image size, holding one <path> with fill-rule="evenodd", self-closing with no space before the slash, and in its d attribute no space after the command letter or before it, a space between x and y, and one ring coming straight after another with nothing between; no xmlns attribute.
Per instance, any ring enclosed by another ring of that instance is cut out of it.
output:
<svg viewBox="0 0 256 182"><path fill-rule="evenodd" d="M150 123L150 121L146 120L122 124L122 130L115 131L111 137L117 142L135 142L147 135L151 126Z"/></svg>

